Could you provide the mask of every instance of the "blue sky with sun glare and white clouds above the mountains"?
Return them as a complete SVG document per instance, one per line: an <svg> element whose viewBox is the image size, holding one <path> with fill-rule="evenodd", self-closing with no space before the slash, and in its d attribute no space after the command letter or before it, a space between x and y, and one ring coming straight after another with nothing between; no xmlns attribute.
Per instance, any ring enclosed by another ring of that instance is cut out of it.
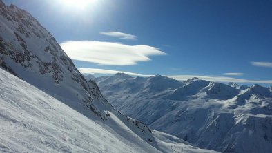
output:
<svg viewBox="0 0 272 153"><path fill-rule="evenodd" d="M4 0L30 12L61 46L82 46L64 49L77 68L272 83L272 1L71 1Z"/></svg>

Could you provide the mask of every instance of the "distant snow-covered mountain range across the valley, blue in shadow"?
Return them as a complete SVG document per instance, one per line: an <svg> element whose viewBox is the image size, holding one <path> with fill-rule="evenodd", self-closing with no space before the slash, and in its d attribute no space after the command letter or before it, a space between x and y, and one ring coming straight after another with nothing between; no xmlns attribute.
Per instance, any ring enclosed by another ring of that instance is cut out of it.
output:
<svg viewBox="0 0 272 153"><path fill-rule="evenodd" d="M220 152L272 150L271 88L242 90L197 78L176 86L166 85L173 79L162 76L116 78L97 78L101 92L114 108L150 128ZM165 90L150 90L150 79L162 82Z"/></svg>

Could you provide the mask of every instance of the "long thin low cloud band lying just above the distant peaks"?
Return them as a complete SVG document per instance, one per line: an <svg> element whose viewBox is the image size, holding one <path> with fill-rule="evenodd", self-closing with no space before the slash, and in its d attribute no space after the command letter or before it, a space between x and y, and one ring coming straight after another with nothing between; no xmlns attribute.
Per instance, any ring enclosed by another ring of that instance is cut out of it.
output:
<svg viewBox="0 0 272 153"><path fill-rule="evenodd" d="M138 74L133 72L124 72L117 70L104 70L104 69L94 69L94 68L79 68L79 72L84 74L116 74L117 72L122 72L132 76L153 76L150 74ZM173 78L179 81L186 81L188 79L192 79L193 77L197 77L199 79L203 79L206 81L214 81L214 82L234 82L234 83L267 83L272 84L272 80L247 80L247 79L237 79L232 77L224 77L224 76L201 76L201 75L166 75L169 78Z"/></svg>

